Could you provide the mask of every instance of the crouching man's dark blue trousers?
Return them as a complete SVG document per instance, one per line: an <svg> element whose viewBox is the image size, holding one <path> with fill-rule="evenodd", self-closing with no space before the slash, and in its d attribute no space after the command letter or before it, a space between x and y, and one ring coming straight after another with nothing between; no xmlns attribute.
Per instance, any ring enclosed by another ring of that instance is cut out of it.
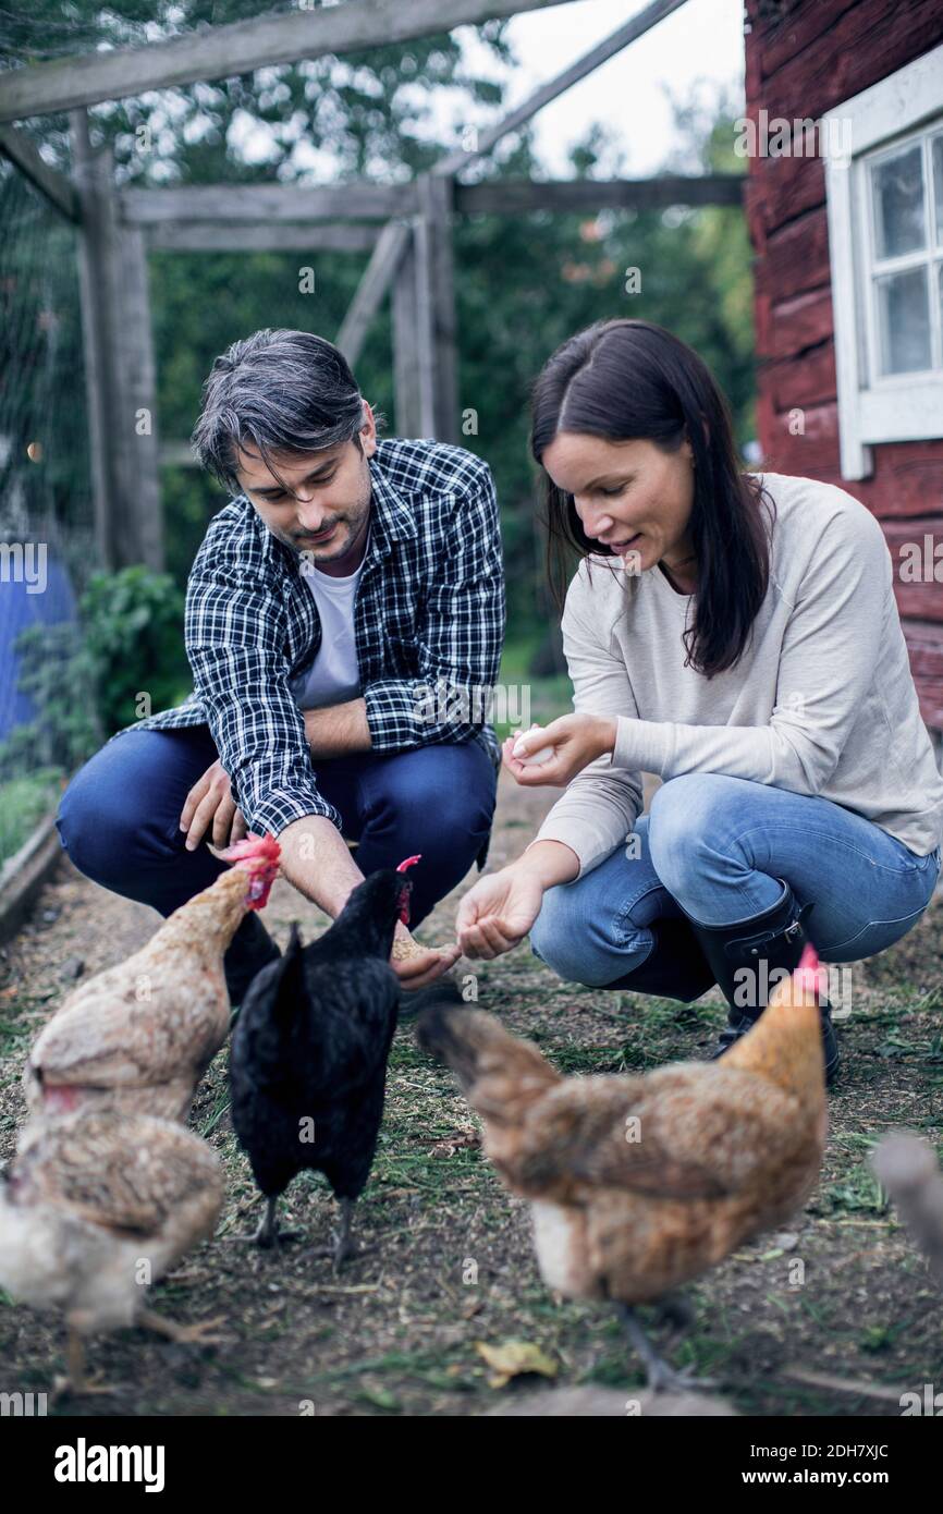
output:
<svg viewBox="0 0 943 1514"><path fill-rule="evenodd" d="M56 816L79 872L165 916L207 889L226 863L206 836L186 851L180 812L216 757L206 725L130 730L107 742L74 775ZM496 780L477 742L318 759L316 774L318 790L341 812L345 839L360 843L354 858L365 877L421 854L410 869L413 927L462 881L489 836ZM244 921L244 937L251 939L254 921ZM262 931L254 936L265 940Z"/></svg>

